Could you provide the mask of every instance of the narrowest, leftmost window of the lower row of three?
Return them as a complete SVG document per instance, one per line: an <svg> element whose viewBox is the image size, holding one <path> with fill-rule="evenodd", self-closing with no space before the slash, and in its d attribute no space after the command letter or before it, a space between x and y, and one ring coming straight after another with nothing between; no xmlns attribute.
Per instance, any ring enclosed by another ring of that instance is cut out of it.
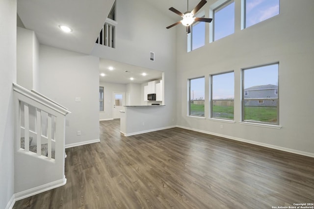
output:
<svg viewBox="0 0 314 209"><path fill-rule="evenodd" d="M189 116L205 116L205 77L189 79Z"/></svg>

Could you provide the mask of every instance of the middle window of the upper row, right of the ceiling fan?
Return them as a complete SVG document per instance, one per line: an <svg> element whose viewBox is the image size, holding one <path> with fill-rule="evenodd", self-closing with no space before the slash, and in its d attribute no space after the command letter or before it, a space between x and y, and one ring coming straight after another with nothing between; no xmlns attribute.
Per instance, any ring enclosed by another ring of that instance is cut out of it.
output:
<svg viewBox="0 0 314 209"><path fill-rule="evenodd" d="M213 10L214 41L235 33L235 2L227 1Z"/></svg>

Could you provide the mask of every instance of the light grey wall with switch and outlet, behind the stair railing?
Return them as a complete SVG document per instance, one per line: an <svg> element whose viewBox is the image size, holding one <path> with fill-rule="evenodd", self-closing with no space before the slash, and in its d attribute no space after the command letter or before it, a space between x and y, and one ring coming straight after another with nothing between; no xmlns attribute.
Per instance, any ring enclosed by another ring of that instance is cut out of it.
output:
<svg viewBox="0 0 314 209"><path fill-rule="evenodd" d="M39 69L38 92L72 112L66 116L66 146L99 139L99 58L40 45Z"/></svg>

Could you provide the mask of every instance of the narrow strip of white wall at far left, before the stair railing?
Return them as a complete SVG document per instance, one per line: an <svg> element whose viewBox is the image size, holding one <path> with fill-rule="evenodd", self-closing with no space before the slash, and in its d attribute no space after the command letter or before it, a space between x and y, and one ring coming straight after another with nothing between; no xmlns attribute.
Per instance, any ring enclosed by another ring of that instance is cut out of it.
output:
<svg viewBox="0 0 314 209"><path fill-rule="evenodd" d="M14 116L12 83L16 82L16 0L0 1L0 208L14 193Z"/></svg>

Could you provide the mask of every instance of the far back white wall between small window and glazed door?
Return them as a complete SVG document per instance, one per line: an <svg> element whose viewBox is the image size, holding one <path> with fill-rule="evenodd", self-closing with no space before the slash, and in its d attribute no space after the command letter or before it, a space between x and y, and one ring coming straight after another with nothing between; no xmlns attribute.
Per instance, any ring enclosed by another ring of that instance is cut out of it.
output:
<svg viewBox="0 0 314 209"><path fill-rule="evenodd" d="M99 120L111 120L113 119L113 92L126 92L127 85L99 82L99 86L104 87L104 112L99 112Z"/></svg>

